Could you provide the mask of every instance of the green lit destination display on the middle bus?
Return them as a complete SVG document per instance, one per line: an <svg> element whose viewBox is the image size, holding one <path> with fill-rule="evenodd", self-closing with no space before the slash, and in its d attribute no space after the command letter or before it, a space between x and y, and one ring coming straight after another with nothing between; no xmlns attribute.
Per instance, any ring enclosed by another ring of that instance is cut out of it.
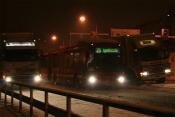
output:
<svg viewBox="0 0 175 117"><path fill-rule="evenodd" d="M96 48L95 53L97 54L120 53L120 50L118 48Z"/></svg>

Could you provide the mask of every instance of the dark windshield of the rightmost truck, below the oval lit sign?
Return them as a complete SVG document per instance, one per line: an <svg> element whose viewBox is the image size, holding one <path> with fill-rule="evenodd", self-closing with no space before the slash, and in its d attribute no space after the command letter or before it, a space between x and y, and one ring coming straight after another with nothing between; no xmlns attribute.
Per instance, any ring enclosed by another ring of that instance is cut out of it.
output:
<svg viewBox="0 0 175 117"><path fill-rule="evenodd" d="M168 52L162 48L141 48L135 49L137 60L149 61L168 58Z"/></svg>

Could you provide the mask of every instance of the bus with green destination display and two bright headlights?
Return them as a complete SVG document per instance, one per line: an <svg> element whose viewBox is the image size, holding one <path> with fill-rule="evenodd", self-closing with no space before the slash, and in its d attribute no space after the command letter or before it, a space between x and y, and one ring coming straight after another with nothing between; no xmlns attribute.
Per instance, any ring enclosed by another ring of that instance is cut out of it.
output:
<svg viewBox="0 0 175 117"><path fill-rule="evenodd" d="M60 85L126 86L140 80L126 66L121 44L109 39L84 39L41 56L43 77Z"/></svg>

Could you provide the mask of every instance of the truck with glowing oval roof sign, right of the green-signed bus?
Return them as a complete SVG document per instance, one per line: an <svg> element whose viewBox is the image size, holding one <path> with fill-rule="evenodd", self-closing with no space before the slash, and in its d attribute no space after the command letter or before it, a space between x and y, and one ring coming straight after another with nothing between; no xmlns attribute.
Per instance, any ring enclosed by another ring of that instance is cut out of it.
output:
<svg viewBox="0 0 175 117"><path fill-rule="evenodd" d="M125 62L144 82L164 83L171 75L169 51L154 34L113 38L120 41Z"/></svg>

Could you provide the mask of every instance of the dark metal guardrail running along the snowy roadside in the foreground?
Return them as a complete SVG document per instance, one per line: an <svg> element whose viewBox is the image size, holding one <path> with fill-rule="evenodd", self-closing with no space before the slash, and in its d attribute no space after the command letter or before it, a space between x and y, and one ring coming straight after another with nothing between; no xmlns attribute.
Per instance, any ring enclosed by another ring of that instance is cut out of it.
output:
<svg viewBox="0 0 175 117"><path fill-rule="evenodd" d="M105 98L97 98L92 96L87 96L83 94L78 94L74 92L68 92L58 89L47 89L39 86L32 86L22 83L10 83L9 86L5 85L4 88L1 89L0 92L0 99L1 93L5 94L4 104L7 104L7 95L11 96L11 106L13 107L13 99L16 98L19 100L19 112L22 110L22 102L25 102L30 105L30 117L33 116L33 107L39 108L45 112L45 117L48 117L48 114L52 114L55 116L61 117L80 117L77 114L74 114L71 111L71 99L79 99L87 102L93 102L96 104L100 104L103 106L102 108L102 116L109 117L109 107L125 109L133 112L138 112L146 115L153 115L159 117L172 117L175 116L175 111L170 111L167 109L162 108L155 108L155 107L145 107L137 104L131 104L128 102L117 101L117 100L110 100ZM19 86L19 93L13 91L14 85ZM30 89L30 97L22 95L22 88L29 88ZM40 90L45 92L45 101L40 102L33 98L33 90ZM54 107L49 105L48 103L48 93L58 94L66 97L66 110Z"/></svg>

